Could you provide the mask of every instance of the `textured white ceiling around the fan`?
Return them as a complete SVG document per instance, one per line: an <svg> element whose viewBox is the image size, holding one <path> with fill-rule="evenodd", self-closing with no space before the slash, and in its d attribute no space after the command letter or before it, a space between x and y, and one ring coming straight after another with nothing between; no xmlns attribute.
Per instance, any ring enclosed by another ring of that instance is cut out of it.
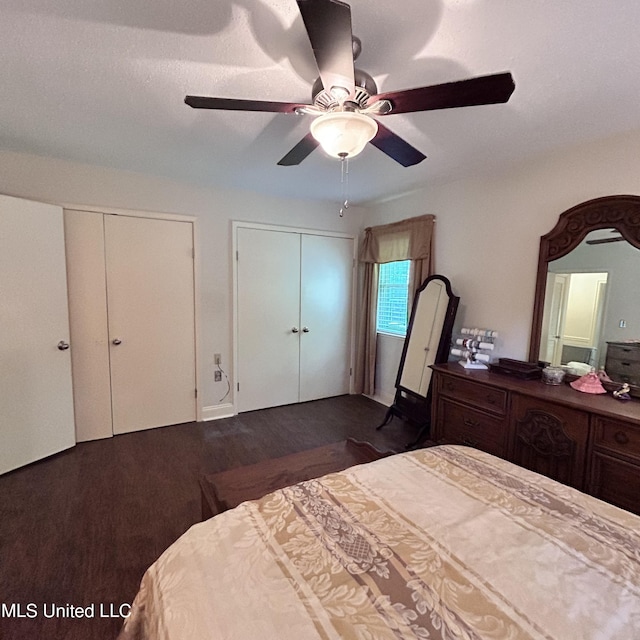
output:
<svg viewBox="0 0 640 640"><path fill-rule="evenodd" d="M369 145L353 202L640 128L637 0L352 0L357 66L380 91L511 71L507 104L383 122L427 155ZM317 70L294 0L0 0L0 148L200 185L340 198L316 150L277 161L309 117L196 111L186 94L310 101ZM603 162L607 159L603 158Z"/></svg>

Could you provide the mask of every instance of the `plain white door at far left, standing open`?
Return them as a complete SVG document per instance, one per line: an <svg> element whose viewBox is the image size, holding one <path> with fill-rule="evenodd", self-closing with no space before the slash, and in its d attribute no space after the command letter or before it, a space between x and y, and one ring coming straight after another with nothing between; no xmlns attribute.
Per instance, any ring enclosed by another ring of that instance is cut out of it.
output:
<svg viewBox="0 0 640 640"><path fill-rule="evenodd" d="M60 207L0 196L0 298L5 473L75 444Z"/></svg>

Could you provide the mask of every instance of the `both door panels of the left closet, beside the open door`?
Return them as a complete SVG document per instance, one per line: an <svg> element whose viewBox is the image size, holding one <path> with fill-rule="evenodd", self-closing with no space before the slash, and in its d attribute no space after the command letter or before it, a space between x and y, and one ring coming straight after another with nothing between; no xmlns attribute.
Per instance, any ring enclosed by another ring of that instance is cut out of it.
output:
<svg viewBox="0 0 640 640"><path fill-rule="evenodd" d="M79 441L196 419L189 222L65 211Z"/></svg>

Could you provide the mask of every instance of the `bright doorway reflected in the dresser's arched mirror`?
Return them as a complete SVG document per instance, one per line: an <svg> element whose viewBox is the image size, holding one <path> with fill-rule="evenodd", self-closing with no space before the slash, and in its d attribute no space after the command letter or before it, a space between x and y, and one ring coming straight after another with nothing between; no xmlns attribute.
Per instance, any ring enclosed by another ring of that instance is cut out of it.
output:
<svg viewBox="0 0 640 640"><path fill-rule="evenodd" d="M598 366L608 274L549 273L541 356L554 365Z"/></svg>

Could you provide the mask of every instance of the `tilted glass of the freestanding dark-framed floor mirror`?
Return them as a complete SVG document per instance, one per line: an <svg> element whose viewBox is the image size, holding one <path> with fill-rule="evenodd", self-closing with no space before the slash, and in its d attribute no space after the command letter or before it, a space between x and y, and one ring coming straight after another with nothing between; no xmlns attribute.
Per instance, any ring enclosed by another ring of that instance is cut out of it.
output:
<svg viewBox="0 0 640 640"><path fill-rule="evenodd" d="M429 390L429 365L438 351L448 304L446 287L439 280L431 281L418 300L400 384L421 396Z"/></svg>

